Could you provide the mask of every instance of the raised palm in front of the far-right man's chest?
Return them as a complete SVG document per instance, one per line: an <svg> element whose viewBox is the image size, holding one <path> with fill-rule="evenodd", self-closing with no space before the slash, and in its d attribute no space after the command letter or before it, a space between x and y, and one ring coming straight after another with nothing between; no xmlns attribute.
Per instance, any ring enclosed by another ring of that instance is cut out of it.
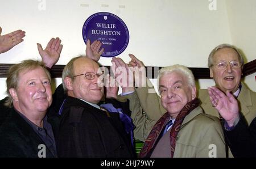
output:
<svg viewBox="0 0 256 169"><path fill-rule="evenodd" d="M226 120L229 126L233 126L234 121L239 118L237 100L229 91L225 95L217 87L208 87L208 92L213 107L217 109L218 113Z"/></svg>

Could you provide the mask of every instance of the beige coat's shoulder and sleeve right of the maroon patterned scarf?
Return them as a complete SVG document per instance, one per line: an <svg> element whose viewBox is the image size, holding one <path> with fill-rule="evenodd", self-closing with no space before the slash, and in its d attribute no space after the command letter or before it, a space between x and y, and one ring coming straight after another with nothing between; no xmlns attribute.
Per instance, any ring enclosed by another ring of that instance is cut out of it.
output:
<svg viewBox="0 0 256 169"><path fill-rule="evenodd" d="M189 113L177 134L174 157L226 157L220 120L201 107Z"/></svg>

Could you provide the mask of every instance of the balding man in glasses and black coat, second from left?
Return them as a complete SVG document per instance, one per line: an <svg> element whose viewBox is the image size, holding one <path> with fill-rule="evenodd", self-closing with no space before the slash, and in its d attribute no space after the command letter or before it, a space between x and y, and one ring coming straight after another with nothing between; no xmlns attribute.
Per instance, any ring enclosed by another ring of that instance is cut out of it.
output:
<svg viewBox="0 0 256 169"><path fill-rule="evenodd" d="M113 104L104 107L111 106L117 112L98 105L104 95L103 78L104 71L88 57L72 58L64 67L62 80L67 98L59 111L59 157L134 157L133 142L122 120L125 112L115 106L122 103L112 100ZM129 109L129 103L126 107Z"/></svg>

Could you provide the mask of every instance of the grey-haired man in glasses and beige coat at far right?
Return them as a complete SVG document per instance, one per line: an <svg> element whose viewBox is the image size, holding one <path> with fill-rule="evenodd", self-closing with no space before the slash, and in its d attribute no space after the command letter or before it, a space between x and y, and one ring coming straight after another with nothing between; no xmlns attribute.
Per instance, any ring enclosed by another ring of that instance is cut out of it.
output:
<svg viewBox="0 0 256 169"><path fill-rule="evenodd" d="M243 58L236 47L229 44L221 44L212 50L208 58L210 77L216 83L216 87L226 94L230 92L237 98L240 112L245 117L247 124L256 116L256 92L247 88L241 82ZM210 115L220 117L219 113L210 103L207 90L199 91L202 101L201 107Z"/></svg>

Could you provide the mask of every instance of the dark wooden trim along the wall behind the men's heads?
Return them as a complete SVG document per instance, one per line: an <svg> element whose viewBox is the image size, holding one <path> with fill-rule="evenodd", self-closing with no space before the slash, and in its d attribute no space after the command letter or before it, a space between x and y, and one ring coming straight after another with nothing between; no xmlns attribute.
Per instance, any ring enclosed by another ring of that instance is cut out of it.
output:
<svg viewBox="0 0 256 169"><path fill-rule="evenodd" d="M0 64L0 78L6 78L7 71L13 64ZM65 65L54 65L51 69L52 78L61 78L61 73ZM105 66L110 72L110 66ZM150 78L157 78L157 74L154 75L155 70L160 70L162 67L150 67L147 66L147 73L151 70L152 75ZM192 70L195 79L210 79L210 71L208 67L189 67ZM250 61L243 66L243 77L256 72L256 60Z"/></svg>

